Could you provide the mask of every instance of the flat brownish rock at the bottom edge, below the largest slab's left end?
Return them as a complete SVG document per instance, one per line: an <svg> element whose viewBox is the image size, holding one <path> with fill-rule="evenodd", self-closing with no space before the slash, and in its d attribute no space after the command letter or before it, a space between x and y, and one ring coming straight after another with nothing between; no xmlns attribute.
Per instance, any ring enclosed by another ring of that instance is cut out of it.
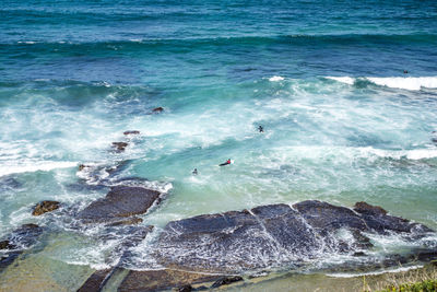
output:
<svg viewBox="0 0 437 292"><path fill-rule="evenodd" d="M212 282L217 280L218 278L218 276L170 269L150 271L131 270L118 288L118 291L162 291L173 288L188 287L196 283Z"/></svg>

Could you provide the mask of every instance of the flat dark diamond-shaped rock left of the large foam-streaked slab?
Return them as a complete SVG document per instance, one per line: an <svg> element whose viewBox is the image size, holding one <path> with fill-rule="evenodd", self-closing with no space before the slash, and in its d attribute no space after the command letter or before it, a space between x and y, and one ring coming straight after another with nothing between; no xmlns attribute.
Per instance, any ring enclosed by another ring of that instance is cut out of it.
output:
<svg viewBox="0 0 437 292"><path fill-rule="evenodd" d="M143 187L116 186L105 198L92 202L78 218L84 223L119 221L119 218L145 213L161 192Z"/></svg>

